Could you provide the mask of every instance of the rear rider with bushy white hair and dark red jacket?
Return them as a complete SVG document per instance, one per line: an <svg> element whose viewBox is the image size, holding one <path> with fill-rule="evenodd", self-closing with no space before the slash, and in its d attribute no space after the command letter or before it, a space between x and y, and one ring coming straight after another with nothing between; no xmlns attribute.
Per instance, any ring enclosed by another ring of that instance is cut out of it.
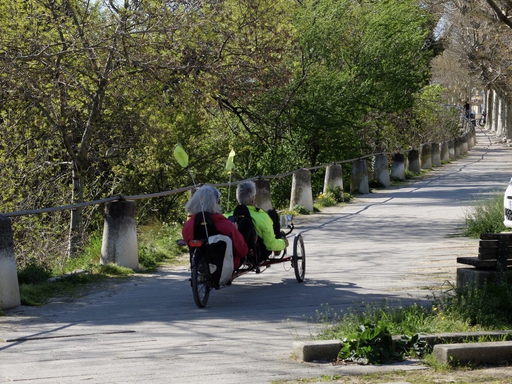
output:
<svg viewBox="0 0 512 384"><path fill-rule="evenodd" d="M194 240L194 218L195 215L202 215L202 212L209 212L214 221L215 228L219 234L224 234L231 239L233 244L233 264L234 268L239 268L242 260L246 257L248 249L244 237L233 225L219 212L219 198L221 193L211 185L203 185L196 190L196 193L188 200L185 205L185 211L189 214L189 219L183 225L181 234L183 240L188 244ZM211 233L215 234L215 233Z"/></svg>

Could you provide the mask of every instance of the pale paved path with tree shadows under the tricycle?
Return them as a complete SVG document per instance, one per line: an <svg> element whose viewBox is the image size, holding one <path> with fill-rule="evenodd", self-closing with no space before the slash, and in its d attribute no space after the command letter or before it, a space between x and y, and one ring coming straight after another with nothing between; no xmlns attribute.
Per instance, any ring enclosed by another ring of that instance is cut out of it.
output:
<svg viewBox="0 0 512 384"><path fill-rule="evenodd" d="M478 248L456 236L465 209L503 193L512 176L510 149L492 142L481 132L467 157L423 180L297 219L302 284L275 265L213 291L198 309L187 269L169 268L72 303L7 311L0 383L268 383L396 368L305 364L290 358L291 345L314 333L307 319L323 304L339 313L362 302L424 301L445 281L455 284L456 257Z"/></svg>

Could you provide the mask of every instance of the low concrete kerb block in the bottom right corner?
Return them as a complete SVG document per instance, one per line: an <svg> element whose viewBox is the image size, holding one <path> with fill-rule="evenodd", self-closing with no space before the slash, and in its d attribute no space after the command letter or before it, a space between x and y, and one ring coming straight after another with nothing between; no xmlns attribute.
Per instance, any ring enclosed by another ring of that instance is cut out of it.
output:
<svg viewBox="0 0 512 384"><path fill-rule="evenodd" d="M512 362L512 342L438 344L432 353L444 364L503 364Z"/></svg>

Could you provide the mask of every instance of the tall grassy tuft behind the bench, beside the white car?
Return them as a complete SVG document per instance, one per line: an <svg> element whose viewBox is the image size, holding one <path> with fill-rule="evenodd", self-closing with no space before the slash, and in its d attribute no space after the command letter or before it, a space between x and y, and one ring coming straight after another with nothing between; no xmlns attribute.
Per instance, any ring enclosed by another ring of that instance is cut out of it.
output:
<svg viewBox="0 0 512 384"><path fill-rule="evenodd" d="M503 193L482 197L465 213L464 235L478 238L482 233L499 233L508 230L503 224Z"/></svg>

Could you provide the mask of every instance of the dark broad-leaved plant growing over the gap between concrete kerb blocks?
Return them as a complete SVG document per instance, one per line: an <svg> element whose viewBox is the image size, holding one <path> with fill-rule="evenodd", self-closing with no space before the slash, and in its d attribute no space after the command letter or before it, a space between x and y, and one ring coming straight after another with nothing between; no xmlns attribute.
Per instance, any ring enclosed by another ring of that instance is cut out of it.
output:
<svg viewBox="0 0 512 384"><path fill-rule="evenodd" d="M393 339L382 322L365 323L343 339L338 358L361 364L390 364L402 356L395 351Z"/></svg>

